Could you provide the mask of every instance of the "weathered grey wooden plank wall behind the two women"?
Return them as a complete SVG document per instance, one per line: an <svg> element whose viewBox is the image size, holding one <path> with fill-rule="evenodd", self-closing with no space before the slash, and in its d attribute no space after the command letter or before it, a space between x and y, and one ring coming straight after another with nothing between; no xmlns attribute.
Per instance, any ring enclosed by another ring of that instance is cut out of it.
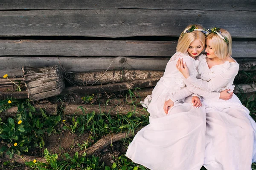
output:
<svg viewBox="0 0 256 170"><path fill-rule="evenodd" d="M252 71L255 16L255 0L1 0L0 72L22 76L22 66L53 65L71 73L163 71L193 23L227 29L233 58Z"/></svg>

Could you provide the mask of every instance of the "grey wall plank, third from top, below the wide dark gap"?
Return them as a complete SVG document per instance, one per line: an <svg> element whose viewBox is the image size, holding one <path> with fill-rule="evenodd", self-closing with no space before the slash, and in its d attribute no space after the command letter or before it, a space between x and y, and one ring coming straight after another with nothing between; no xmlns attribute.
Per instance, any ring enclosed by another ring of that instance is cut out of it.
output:
<svg viewBox="0 0 256 170"><path fill-rule="evenodd" d="M233 42L234 58L256 58L256 42ZM176 52L177 41L0 40L0 56L164 56Z"/></svg>

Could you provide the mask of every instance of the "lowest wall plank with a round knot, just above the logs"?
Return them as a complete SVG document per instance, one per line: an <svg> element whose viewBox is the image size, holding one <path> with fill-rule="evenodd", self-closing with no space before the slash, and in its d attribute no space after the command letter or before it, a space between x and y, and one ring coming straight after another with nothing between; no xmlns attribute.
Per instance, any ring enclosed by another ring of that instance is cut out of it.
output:
<svg viewBox="0 0 256 170"><path fill-rule="evenodd" d="M58 65L66 72L96 72L106 70L156 70L164 71L170 58L134 58L134 57L1 57L0 72L3 75L23 76L22 66L47 67ZM235 58L240 70L255 71L256 61L249 58L244 62Z"/></svg>

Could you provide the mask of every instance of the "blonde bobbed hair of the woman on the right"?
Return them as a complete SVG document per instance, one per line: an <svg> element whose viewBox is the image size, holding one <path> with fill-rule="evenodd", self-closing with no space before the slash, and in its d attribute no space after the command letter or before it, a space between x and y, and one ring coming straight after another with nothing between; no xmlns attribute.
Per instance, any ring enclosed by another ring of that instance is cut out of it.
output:
<svg viewBox="0 0 256 170"><path fill-rule="evenodd" d="M220 29L221 35L227 37L229 43L226 43L214 32L207 35L206 39L212 40L212 50L219 59L225 59L232 55L232 38L226 29Z"/></svg>

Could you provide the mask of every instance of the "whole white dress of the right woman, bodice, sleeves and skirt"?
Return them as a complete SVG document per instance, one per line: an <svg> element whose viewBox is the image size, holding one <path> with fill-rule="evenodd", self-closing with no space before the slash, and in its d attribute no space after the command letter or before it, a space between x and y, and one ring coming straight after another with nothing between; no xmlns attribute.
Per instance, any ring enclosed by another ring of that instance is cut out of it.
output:
<svg viewBox="0 0 256 170"><path fill-rule="evenodd" d="M233 81L239 64L226 61L209 69L206 57L199 58L201 80L185 79L192 92L221 92L234 89ZM234 94L230 100L204 98L206 110L206 150L204 167L207 170L251 170L256 161L256 123Z"/></svg>

